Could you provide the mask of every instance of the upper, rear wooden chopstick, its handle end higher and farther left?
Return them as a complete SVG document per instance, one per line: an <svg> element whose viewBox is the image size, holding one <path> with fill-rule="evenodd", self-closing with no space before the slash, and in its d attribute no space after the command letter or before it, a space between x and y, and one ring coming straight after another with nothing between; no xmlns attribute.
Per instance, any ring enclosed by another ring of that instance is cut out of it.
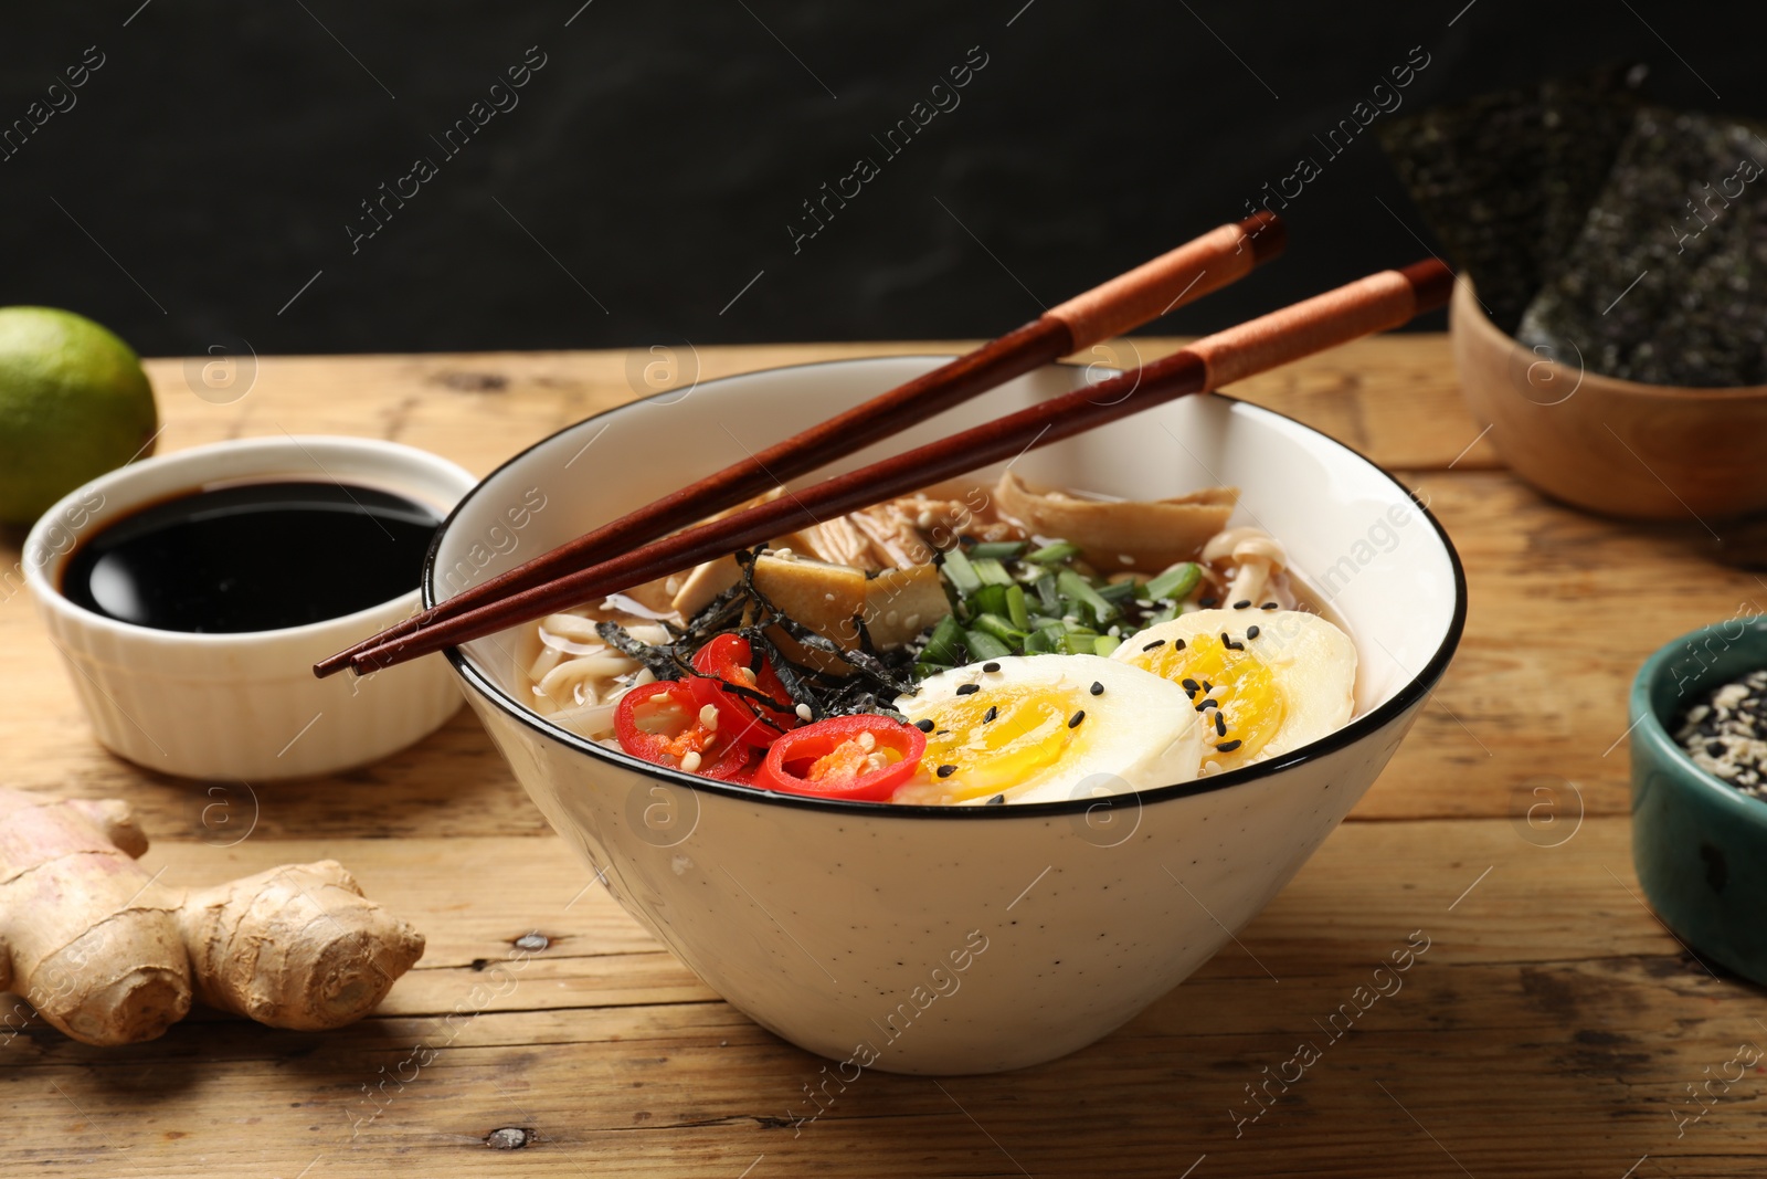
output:
<svg viewBox="0 0 1767 1179"><path fill-rule="evenodd" d="M574 569L654 541L682 525L735 507L781 483L841 460L952 405L1021 377L1034 368L1157 320L1249 274L1283 251L1286 230L1270 212L1256 212L1172 249L1134 270L1050 308L1025 327L836 414L785 442L751 454L698 483L627 513L594 532L560 544L495 578L470 585L444 603L413 613L348 650L315 665L315 675L341 672L350 661L399 635L421 631L444 617L502 601L516 590L551 582Z"/></svg>

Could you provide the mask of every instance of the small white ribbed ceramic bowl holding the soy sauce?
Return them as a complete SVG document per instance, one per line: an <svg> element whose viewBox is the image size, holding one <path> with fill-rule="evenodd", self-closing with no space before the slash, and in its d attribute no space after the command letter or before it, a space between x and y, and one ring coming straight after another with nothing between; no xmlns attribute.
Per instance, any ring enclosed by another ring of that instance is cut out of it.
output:
<svg viewBox="0 0 1767 1179"><path fill-rule="evenodd" d="M442 659L366 679L313 665L417 606L417 589L357 613L276 631L189 635L118 622L60 592L81 537L138 507L233 479L339 479L447 513L470 472L394 442L242 438L131 463L71 491L25 539L25 580L49 640L113 753L166 774L270 781L329 774L401 749L459 707ZM346 576L313 569L306 576Z"/></svg>

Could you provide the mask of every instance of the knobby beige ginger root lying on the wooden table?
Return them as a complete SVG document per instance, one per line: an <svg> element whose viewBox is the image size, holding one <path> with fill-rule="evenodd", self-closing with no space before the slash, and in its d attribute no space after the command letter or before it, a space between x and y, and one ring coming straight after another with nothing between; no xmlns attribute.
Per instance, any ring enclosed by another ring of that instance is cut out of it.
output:
<svg viewBox="0 0 1767 1179"><path fill-rule="evenodd" d="M320 1031L368 1015L424 953L336 861L184 893L143 852L125 802L0 790L0 992L88 1045L154 1039L193 997Z"/></svg>

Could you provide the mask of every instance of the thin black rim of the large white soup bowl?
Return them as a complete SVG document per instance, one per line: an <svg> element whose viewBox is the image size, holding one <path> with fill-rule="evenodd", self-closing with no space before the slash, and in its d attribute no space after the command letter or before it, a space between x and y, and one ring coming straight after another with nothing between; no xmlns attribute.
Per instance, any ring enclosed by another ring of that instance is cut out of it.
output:
<svg viewBox="0 0 1767 1179"><path fill-rule="evenodd" d="M709 389L712 385L721 385L721 384L732 382L732 380L747 380L747 378L760 377L763 373L781 373L781 371L800 369L800 368L836 368L836 366L850 366L850 364L876 364L878 361L938 361L938 362L947 362L951 359L954 359L954 357L922 354L922 355L892 355L892 357L857 357L857 359L848 359L848 361L808 361L804 364L779 364L779 366L767 368L767 369L755 369L751 373L733 373L730 377L719 377L717 380L703 382L698 387L700 389ZM1078 368L1078 366L1064 364L1060 368ZM624 405L617 405L611 410L603 410L601 414L595 414L592 417L585 417L583 421L571 422L569 426L565 426L562 430L555 430L553 433L546 435L544 438L541 438L534 445L528 445L523 451L518 451L516 454L512 454L511 458L507 458L504 463L500 463L497 467L497 470L493 470L484 479L481 479L477 486L474 486L470 491L466 491L466 495L463 495L459 498L459 502L454 504L454 509L442 521L442 527L436 529L435 539L429 543L429 551L424 555L424 573L422 573L422 601L424 601L424 606L428 608L428 606L436 605L435 603L435 566L436 566L436 555L438 555L438 551L442 548L442 537L454 525L454 518L461 513L461 509L466 507L466 504L470 504L474 500L474 497L477 497L479 491L488 483L491 483L497 475L500 475L504 470L507 470L514 463L519 463L523 458L527 458L534 451L537 451L539 447L546 445L548 442L551 442L558 435L565 433L567 430L578 430L580 426L585 426L585 424L594 422L594 421L601 421L603 417L611 417L615 414L622 414L622 412L629 410L634 405L643 405L645 401L652 401L656 398L677 396L677 392L679 391L670 389L670 391L664 391L664 392L659 392L659 394L652 394L650 398L640 398L636 401L627 401ZM1221 396L1221 394L1214 394L1214 396ZM1435 518L1435 513L1431 513L1428 506L1421 504L1412 495L1410 488L1407 488L1403 483L1399 483L1398 477L1394 477L1392 472L1389 472L1385 467L1382 467L1380 463L1373 461L1371 458L1368 458L1361 451L1357 451L1355 447L1345 445L1338 438L1332 438L1331 435L1327 435L1327 433L1323 433L1320 430L1313 430L1313 426L1308 426L1306 422L1295 421L1293 417L1288 417L1286 414L1278 414L1276 410L1269 410L1269 408L1265 408L1262 405L1251 405L1249 401L1237 401L1233 398L1221 398L1221 399L1223 401L1233 401L1235 405L1239 405L1239 407L1242 407L1242 408L1246 408L1249 412L1255 412L1255 414L1269 414L1270 417L1276 417L1276 419L1281 419L1281 421L1286 421L1286 422L1293 422L1301 430L1306 430L1308 433L1318 435L1325 442L1329 442L1329 444L1332 444L1332 445L1346 451L1348 454L1354 454L1355 458L1359 458L1364 463L1368 463L1369 467L1373 467L1387 481L1391 481L1392 486L1399 488L1399 491L1405 493L1405 497L1412 502L1412 506L1419 513L1422 513L1424 520L1430 521L1430 527L1435 529L1435 534L1442 541L1442 548L1447 553L1449 567L1454 571L1454 617L1449 622L1447 633L1442 636L1442 643L1437 647L1435 654L1430 656L1430 661L1424 665L1424 668L1417 675L1414 675L1410 681L1407 681L1407 684L1403 688L1399 688L1399 691L1396 691L1389 700L1385 700L1384 704L1380 704L1373 711L1366 712L1364 716L1352 718L1350 723L1345 725L1343 728L1339 728L1338 732L1329 734L1325 737L1320 737L1318 741L1315 741L1311 744L1304 744L1299 749L1293 749L1292 753L1285 753L1281 757L1274 757L1274 758L1270 758L1267 762L1253 762L1251 765L1244 765L1240 769L1230 769L1230 771L1225 771L1221 774L1210 774L1207 778L1194 778L1191 781L1180 781L1180 783L1173 783L1170 787L1154 787L1150 790L1131 790L1131 792L1124 792L1124 794L1106 794L1106 795L1096 795L1096 797L1094 795L1085 795L1085 797L1076 797L1076 799L1062 799L1062 801L1055 801L1055 802L1020 802L1020 804L1014 804L1014 806L926 806L926 804L908 806L908 804L899 804L899 802L855 802L855 801L850 801L850 799L818 799L818 797L804 795L804 794L781 794L781 792L776 792L776 790L762 790L760 787L744 787L740 783L719 781L716 778L700 778L698 774L689 774L686 771L670 769L666 765L657 765L656 762L645 762L643 758L633 757L631 753L626 753L624 749L610 749L606 746L595 744L588 737L580 737L580 735L573 734L567 728L560 728L558 725L550 723L539 712L534 712L532 709L521 707L521 704L518 704L516 700L512 700L497 684L493 684L482 672L479 672L479 668L475 668L472 665L472 661L466 658L466 652L461 650L459 647L447 647L447 649L444 649L442 654L447 656L447 661L454 666L454 672L474 691L477 691L481 696L484 696L486 700L489 700L495 707L502 709L511 718L514 718L516 721L519 721L519 723L527 725L528 728L535 730L542 737L550 737L551 741L565 744L565 746L569 746L569 748L573 748L573 749L576 749L580 753L587 753L592 758L606 760L606 762L610 762L613 765L634 771L638 774L643 774L647 778L654 778L657 781L664 781L664 783L677 785L677 787L687 787L691 790L705 790L709 794L721 794L721 795L726 795L726 797L732 797L732 799L746 799L746 801L751 801L751 802L767 802L767 804L772 804L772 806L795 806L795 808L823 810L823 811L850 813L850 815L876 815L876 817L896 817L896 818L954 818L954 820L967 820L967 822L981 822L981 820L1007 818L1007 817L1011 817L1011 818L1050 818L1050 817L1055 817L1055 815L1085 815L1085 813L1090 813L1090 811L1101 810L1101 808L1106 810L1106 811L1119 810L1119 808L1129 808L1129 806L1136 806L1138 808L1138 806L1143 806L1147 802L1163 802L1163 801L1168 801L1168 799L1184 799L1184 797L1191 797L1191 795L1196 795L1196 794L1210 794L1214 790L1228 790L1232 787L1239 787L1239 785L1244 785L1248 781L1256 781L1260 778L1269 778L1269 776L1278 774L1278 772L1281 772L1285 769L1292 769L1292 767L1301 765L1304 762L1318 760L1322 757L1327 757L1327 755L1336 753L1336 751L1339 751L1339 749L1343 749L1346 746L1355 744L1362 737L1368 737L1369 734L1375 734L1380 728L1384 728L1387 723L1391 723L1399 714L1403 714L1408 707L1412 707L1412 704L1415 704L1419 698L1422 698L1424 695L1430 693L1430 689L1435 686L1435 682L1438 679L1442 679L1442 673L1447 670L1449 661L1454 658L1454 650L1460 647L1461 631L1465 629L1465 624L1467 624L1467 571L1461 567L1461 564L1460 564L1460 553L1454 551L1454 541L1449 539L1447 529L1442 527L1442 521L1438 521Z"/></svg>

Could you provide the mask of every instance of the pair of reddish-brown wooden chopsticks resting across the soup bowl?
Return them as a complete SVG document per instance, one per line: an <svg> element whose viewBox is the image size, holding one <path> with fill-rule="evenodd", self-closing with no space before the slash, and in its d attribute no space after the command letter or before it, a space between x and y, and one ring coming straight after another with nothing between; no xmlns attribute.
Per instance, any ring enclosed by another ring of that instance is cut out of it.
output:
<svg viewBox="0 0 1767 1179"><path fill-rule="evenodd" d="M1260 237L1270 239L1262 249ZM315 668L315 673L329 675L345 666L357 673L373 672L631 589L818 520L869 507L929 483L1016 458L1025 451L1071 438L1179 396L1207 392L1302 355L1398 327L1422 311L1445 304L1452 290L1452 272L1435 260L1417 262L1403 270L1382 270L1205 336L1134 373L1076 389L723 520L663 536L682 521L700 520L742 502L785 479L894 435L1011 377L1157 318L1179 302L1217 290L1249 272L1258 262L1274 256L1281 240L1281 223L1263 214L1221 226L1053 308L1027 327L915 382L793 435L746 463L709 475L498 578L463 590L350 650L330 656ZM855 430L861 435L857 438L850 433ZM627 551L618 551L622 546Z"/></svg>

